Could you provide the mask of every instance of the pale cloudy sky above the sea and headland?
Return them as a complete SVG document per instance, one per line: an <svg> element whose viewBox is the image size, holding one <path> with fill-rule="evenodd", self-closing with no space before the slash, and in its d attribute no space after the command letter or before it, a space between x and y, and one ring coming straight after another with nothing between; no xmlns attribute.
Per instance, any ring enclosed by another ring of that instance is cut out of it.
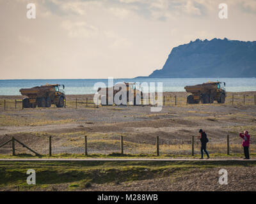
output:
<svg viewBox="0 0 256 204"><path fill-rule="evenodd" d="M255 41L255 22L255 0L0 0L0 79L148 76L197 38Z"/></svg>

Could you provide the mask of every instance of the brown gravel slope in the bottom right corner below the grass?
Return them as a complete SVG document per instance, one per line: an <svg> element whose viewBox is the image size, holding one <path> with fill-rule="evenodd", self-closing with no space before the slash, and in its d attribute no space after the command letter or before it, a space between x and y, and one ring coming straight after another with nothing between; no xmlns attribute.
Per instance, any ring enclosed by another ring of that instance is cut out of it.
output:
<svg viewBox="0 0 256 204"><path fill-rule="evenodd" d="M228 184L219 184L220 168L195 169L180 175L120 184L93 184L86 191L255 191L255 167L223 167Z"/></svg>

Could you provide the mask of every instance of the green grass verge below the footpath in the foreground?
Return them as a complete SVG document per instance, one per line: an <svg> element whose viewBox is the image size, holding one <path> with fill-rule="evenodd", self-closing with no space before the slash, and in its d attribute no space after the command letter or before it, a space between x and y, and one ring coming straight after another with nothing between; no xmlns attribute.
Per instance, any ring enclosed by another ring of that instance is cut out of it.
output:
<svg viewBox="0 0 256 204"><path fill-rule="evenodd" d="M92 184L178 176L195 168L256 166L255 161L0 161L0 190L83 190ZM28 169L36 171L36 185L28 185Z"/></svg>

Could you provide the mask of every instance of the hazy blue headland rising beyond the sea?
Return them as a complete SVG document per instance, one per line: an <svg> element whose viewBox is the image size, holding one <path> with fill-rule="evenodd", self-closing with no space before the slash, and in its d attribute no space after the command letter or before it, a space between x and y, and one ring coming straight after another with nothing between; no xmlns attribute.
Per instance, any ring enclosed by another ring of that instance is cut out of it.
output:
<svg viewBox="0 0 256 204"><path fill-rule="evenodd" d="M256 41L190 41L148 77L256 77Z"/></svg>

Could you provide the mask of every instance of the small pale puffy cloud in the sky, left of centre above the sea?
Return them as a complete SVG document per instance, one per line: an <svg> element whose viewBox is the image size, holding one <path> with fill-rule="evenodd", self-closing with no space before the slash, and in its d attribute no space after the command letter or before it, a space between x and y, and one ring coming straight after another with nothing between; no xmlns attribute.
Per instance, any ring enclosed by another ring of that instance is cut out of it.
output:
<svg viewBox="0 0 256 204"><path fill-rule="evenodd" d="M96 36L98 29L93 25L88 25L86 22L72 22L65 20L61 23L61 27L68 31L70 38L90 38Z"/></svg>

